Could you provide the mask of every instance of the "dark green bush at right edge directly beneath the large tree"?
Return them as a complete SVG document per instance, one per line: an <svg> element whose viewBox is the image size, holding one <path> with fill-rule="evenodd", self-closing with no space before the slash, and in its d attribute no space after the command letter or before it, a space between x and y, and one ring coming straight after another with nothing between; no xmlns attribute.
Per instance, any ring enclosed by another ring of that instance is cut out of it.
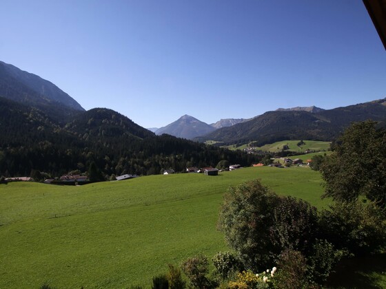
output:
<svg viewBox="0 0 386 289"><path fill-rule="evenodd" d="M373 202L336 202L321 213L323 238L356 256L386 248L386 221Z"/></svg>

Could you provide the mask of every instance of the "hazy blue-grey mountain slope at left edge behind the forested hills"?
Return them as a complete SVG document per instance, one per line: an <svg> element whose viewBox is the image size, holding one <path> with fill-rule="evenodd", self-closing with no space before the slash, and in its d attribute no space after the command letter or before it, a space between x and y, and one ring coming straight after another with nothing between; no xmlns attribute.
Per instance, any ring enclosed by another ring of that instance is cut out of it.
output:
<svg viewBox="0 0 386 289"><path fill-rule="evenodd" d="M59 118L84 111L74 98L50 81L3 61L0 61L0 96Z"/></svg>

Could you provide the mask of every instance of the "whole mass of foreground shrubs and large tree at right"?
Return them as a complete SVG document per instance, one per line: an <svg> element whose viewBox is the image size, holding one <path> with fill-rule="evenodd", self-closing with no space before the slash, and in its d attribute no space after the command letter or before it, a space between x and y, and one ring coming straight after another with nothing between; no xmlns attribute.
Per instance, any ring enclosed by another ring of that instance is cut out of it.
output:
<svg viewBox="0 0 386 289"><path fill-rule="evenodd" d="M244 268L259 272L278 264L277 288L312 287L327 281L341 257L383 252L385 141L375 122L356 123L332 155L318 160L325 195L335 200L328 210L276 195L258 180L230 187L219 228Z"/></svg>

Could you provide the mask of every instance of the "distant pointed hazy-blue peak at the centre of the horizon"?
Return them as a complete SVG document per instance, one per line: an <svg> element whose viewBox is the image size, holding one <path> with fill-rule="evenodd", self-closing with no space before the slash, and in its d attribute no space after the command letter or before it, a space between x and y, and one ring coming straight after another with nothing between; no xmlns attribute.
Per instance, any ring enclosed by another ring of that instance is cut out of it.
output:
<svg viewBox="0 0 386 289"><path fill-rule="evenodd" d="M185 114L185 116L181 116L181 118L170 123L166 127L157 129L155 133L156 135L167 133L171 136L176 136L177 138L192 140L197 136L203 136L211 131L214 131L214 127L211 125Z"/></svg>

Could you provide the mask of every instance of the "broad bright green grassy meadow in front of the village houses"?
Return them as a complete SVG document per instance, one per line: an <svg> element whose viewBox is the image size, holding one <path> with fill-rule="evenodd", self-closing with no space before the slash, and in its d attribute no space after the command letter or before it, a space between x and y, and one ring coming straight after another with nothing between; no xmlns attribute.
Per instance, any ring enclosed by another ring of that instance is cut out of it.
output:
<svg viewBox="0 0 386 289"><path fill-rule="evenodd" d="M150 288L167 264L228 250L216 222L229 186L260 178L281 195L327 207L307 167L244 168L209 177L0 185L0 288Z"/></svg>

